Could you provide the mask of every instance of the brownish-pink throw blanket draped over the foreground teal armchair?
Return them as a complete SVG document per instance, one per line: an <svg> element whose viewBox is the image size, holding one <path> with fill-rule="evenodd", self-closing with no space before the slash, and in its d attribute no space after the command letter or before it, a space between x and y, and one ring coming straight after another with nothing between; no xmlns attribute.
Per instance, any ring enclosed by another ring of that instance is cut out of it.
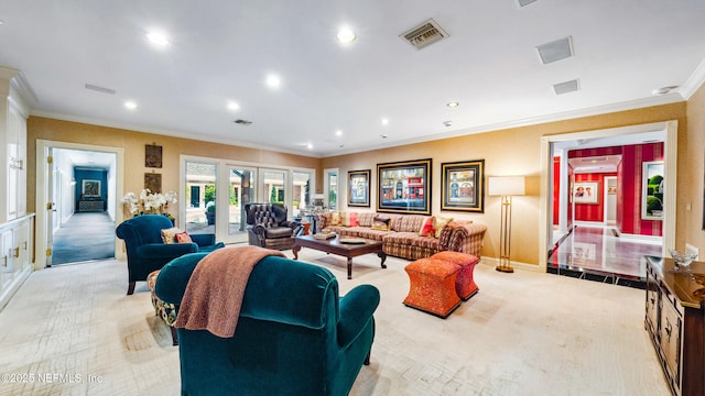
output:
<svg viewBox="0 0 705 396"><path fill-rule="evenodd" d="M191 275L174 327L232 337L250 273L268 255L284 257L259 246L218 249L206 255Z"/></svg>

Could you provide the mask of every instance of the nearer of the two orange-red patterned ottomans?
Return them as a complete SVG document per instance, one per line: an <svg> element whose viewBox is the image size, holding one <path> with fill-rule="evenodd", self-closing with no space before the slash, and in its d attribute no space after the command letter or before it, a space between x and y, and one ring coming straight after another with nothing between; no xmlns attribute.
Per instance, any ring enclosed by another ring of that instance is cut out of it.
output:
<svg viewBox="0 0 705 396"><path fill-rule="evenodd" d="M409 275L406 307L446 318L460 305L455 280L460 266L436 258L421 258L404 267Z"/></svg>

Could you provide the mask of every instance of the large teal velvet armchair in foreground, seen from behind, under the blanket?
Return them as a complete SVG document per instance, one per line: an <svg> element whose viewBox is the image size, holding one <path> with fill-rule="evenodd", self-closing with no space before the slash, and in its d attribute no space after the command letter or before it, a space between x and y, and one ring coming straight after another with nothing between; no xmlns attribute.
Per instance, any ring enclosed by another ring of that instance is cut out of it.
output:
<svg viewBox="0 0 705 396"><path fill-rule="evenodd" d="M155 293L181 304L203 254L165 265ZM182 395L347 395L369 364L379 290L338 296L323 267L268 256L252 271L232 338L178 331Z"/></svg>

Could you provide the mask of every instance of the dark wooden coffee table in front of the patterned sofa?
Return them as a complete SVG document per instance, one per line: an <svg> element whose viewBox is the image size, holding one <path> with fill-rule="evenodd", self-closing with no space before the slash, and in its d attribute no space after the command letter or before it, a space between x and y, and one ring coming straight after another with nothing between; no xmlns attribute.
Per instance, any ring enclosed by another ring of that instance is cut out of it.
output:
<svg viewBox="0 0 705 396"><path fill-rule="evenodd" d="M343 243L340 242L340 235L327 240L318 240L313 235L296 237L294 248L294 260L299 260L299 251L301 248L310 248L317 251L341 255L348 258L348 279L352 278L352 257L357 257L362 254L377 253L382 260L382 268L387 268L384 261L387 254L382 252L382 241L368 240L362 238L355 238L362 243ZM343 237L346 238L346 237Z"/></svg>

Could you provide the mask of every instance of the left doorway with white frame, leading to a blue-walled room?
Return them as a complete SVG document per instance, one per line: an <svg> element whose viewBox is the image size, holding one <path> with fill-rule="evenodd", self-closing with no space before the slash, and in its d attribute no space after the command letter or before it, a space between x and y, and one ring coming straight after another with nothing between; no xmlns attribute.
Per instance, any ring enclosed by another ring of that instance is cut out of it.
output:
<svg viewBox="0 0 705 396"><path fill-rule="evenodd" d="M37 140L36 270L121 253L122 163L120 147Z"/></svg>

